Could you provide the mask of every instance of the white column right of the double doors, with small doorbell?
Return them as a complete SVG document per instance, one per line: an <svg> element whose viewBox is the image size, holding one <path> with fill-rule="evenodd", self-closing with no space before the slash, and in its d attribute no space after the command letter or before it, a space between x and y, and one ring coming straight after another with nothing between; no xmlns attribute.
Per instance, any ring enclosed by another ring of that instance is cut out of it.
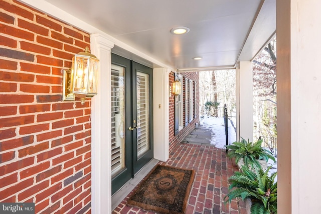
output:
<svg viewBox="0 0 321 214"><path fill-rule="evenodd" d="M167 68L153 69L153 133L154 158L169 158L169 74Z"/></svg>

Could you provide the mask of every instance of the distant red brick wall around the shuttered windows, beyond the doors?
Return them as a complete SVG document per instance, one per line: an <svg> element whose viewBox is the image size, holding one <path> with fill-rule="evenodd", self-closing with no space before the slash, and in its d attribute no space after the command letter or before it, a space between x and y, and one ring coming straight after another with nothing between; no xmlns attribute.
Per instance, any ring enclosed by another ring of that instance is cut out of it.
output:
<svg viewBox="0 0 321 214"><path fill-rule="evenodd" d="M185 112L185 77L188 79L192 79L193 80L193 87L194 89L194 119L188 123L187 126L184 125L183 129L181 129L179 131L179 133L177 135L175 135L174 132L174 122L175 122L175 96L172 95L170 97L170 121L169 121L169 127L170 127L170 133L169 133L169 149L170 149L170 153L172 151L172 149L180 142L182 142L182 140L189 135L194 129L195 129L195 123L200 123L200 112L199 112L199 104L200 104L200 91L199 91L199 72L184 72L184 73L180 73L181 75L183 75L183 119L184 119L184 124L185 124L185 114L189 113L189 112ZM173 81L174 81L174 76L175 73L171 72L169 75L169 81L170 81L170 85L172 85Z"/></svg>

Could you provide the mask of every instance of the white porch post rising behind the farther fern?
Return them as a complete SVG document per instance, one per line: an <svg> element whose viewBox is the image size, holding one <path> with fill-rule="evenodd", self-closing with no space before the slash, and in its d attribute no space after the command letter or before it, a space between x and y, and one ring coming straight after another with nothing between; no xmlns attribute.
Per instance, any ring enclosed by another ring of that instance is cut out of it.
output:
<svg viewBox="0 0 321 214"><path fill-rule="evenodd" d="M240 61L236 69L236 139L253 140L253 68Z"/></svg>

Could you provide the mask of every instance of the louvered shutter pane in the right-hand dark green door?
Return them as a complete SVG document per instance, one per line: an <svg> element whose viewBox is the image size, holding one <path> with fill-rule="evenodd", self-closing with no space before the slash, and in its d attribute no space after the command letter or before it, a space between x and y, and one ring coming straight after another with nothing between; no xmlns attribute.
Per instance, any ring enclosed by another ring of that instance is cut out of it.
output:
<svg viewBox="0 0 321 214"><path fill-rule="evenodd" d="M149 149L149 76L137 71L137 158Z"/></svg>

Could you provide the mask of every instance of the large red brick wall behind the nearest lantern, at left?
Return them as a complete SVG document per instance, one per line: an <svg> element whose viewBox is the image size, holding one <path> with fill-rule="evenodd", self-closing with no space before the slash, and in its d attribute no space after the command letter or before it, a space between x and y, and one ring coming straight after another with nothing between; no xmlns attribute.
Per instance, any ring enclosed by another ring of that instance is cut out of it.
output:
<svg viewBox="0 0 321 214"><path fill-rule="evenodd" d="M62 68L89 34L0 0L0 202L90 213L91 102L62 100Z"/></svg>

